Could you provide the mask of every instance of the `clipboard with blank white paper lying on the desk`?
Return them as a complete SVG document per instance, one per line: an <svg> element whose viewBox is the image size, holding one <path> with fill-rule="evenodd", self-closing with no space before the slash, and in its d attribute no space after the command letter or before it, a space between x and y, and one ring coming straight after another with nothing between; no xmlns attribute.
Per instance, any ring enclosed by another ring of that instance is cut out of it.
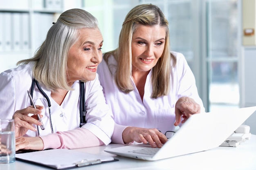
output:
<svg viewBox="0 0 256 170"><path fill-rule="evenodd" d="M16 160L46 166L57 170L79 168L118 161L113 157L94 155L70 149L50 149L35 152L18 153Z"/></svg>

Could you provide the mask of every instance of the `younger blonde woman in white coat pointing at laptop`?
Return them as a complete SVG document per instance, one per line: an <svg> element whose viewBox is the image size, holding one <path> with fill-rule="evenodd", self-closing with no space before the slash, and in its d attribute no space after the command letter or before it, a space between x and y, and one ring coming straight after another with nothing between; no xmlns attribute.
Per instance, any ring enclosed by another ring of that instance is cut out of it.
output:
<svg viewBox="0 0 256 170"><path fill-rule="evenodd" d="M168 21L157 6L134 7L124 20L118 48L103 59L99 80L115 132L123 134L112 142L148 141L161 147L167 140L164 134L191 114L204 112L184 56L170 53Z"/></svg>

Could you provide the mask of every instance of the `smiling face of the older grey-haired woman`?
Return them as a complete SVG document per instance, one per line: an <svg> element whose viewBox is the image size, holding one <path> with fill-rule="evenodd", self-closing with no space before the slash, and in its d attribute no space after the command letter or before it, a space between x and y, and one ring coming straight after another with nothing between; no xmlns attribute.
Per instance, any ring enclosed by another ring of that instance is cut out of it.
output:
<svg viewBox="0 0 256 170"><path fill-rule="evenodd" d="M97 66L102 60L103 38L99 29L80 29L79 39L70 48L67 57L67 78L70 84L76 80L94 80Z"/></svg>

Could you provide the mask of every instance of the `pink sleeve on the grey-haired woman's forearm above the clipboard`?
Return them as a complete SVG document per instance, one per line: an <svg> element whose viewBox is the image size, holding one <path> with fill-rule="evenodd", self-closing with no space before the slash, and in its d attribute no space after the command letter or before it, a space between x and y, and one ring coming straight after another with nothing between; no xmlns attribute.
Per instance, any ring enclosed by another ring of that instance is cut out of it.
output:
<svg viewBox="0 0 256 170"><path fill-rule="evenodd" d="M87 148L103 145L103 142L100 139L85 128L76 128L66 132L58 131L46 136L40 136L40 138L43 140L43 150Z"/></svg>

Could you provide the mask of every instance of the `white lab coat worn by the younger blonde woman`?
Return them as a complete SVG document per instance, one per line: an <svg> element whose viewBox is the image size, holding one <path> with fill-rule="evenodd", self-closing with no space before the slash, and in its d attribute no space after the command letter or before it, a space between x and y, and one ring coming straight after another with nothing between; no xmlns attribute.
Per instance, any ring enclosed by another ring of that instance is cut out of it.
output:
<svg viewBox="0 0 256 170"><path fill-rule="evenodd" d="M204 106L195 85L195 77L184 55L176 52L172 53L177 58L177 64L172 67L170 93L157 99L150 97L152 91L151 71L146 78L145 93L142 101L134 83L134 90L128 94L121 92L117 88L113 78L117 64L113 56L108 59L110 69L104 60L99 64L97 70L99 80L117 124L157 128L162 133L173 131L175 129L173 125L175 122L175 104L180 97L184 96L193 98L195 102L200 104L201 113L204 112Z"/></svg>

